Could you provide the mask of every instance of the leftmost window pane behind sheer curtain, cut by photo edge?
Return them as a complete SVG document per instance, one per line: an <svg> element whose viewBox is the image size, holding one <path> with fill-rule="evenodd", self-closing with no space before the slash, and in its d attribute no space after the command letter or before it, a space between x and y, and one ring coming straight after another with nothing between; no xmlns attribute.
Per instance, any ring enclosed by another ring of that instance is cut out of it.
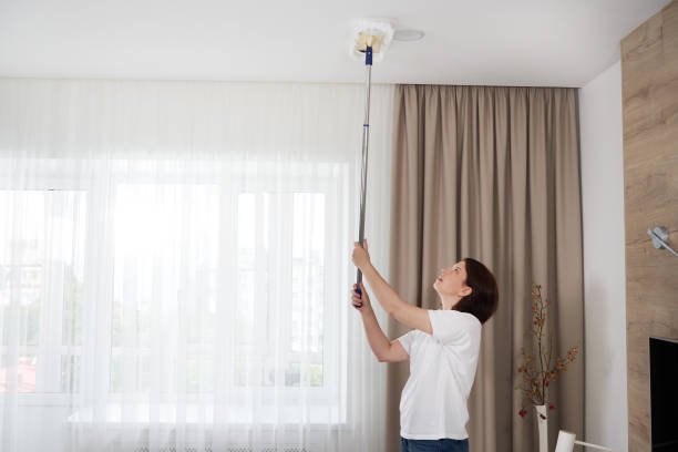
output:
<svg viewBox="0 0 678 452"><path fill-rule="evenodd" d="M0 345L80 345L86 194L0 191ZM35 391L37 356L4 362L0 391L14 378L19 391ZM59 366L49 369L40 374L41 391L59 388Z"/></svg>

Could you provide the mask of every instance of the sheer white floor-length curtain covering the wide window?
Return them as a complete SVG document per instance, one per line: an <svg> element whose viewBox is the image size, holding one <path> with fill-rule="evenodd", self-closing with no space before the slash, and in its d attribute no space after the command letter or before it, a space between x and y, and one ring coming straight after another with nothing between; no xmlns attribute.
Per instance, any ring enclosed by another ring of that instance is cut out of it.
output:
<svg viewBox="0 0 678 452"><path fill-rule="evenodd" d="M391 104L374 86L381 269ZM362 107L359 85L0 80L0 450L382 450L349 301Z"/></svg>

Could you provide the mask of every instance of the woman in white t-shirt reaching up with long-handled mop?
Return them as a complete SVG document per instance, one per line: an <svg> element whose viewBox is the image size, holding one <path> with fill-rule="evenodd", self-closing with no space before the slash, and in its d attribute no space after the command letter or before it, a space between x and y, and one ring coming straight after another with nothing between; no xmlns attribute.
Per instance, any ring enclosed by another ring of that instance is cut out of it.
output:
<svg viewBox="0 0 678 452"><path fill-rule="evenodd" d="M363 274L383 309L412 331L389 341L377 322L370 298L353 285L352 304L362 315L364 331L380 362L410 359L410 378L400 399L400 451L468 452L466 400L477 364L481 325L496 310L497 288L492 273L471 258L443 268L433 282L441 309L409 305L372 266L364 248L355 244L353 264Z"/></svg>

